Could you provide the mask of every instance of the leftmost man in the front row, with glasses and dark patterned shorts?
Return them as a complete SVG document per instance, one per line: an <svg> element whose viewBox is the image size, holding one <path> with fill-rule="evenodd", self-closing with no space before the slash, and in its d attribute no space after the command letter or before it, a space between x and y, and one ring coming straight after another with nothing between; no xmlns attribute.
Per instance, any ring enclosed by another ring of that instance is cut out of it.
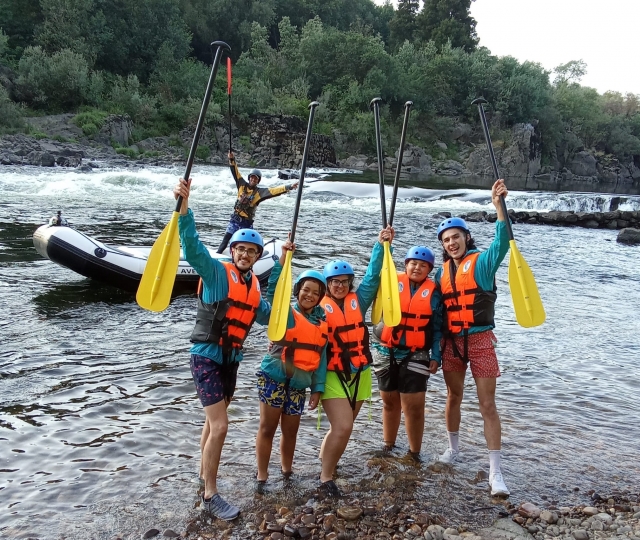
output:
<svg viewBox="0 0 640 540"><path fill-rule="evenodd" d="M218 493L218 467L229 427L227 407L236 386L242 345L255 321L269 323L271 306L262 298L258 278L251 272L264 243L257 231L239 229L230 239L232 262L212 257L196 231L189 208L190 185L191 181L180 179L173 193L176 199L182 196L178 229L184 257L203 283L191 334L191 373L205 412L200 439L202 507L229 521L238 516L240 509Z"/></svg>

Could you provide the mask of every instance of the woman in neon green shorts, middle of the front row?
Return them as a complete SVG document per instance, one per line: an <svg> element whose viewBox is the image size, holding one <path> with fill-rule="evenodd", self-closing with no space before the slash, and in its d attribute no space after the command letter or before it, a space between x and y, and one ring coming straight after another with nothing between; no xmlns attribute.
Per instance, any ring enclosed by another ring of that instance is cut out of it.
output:
<svg viewBox="0 0 640 540"><path fill-rule="evenodd" d="M367 271L355 290L354 271L348 262L331 261L323 271L327 279L327 295L321 305L329 325L329 344L322 406L331 427L320 449L320 482L322 490L332 497L340 495L333 481L336 466L347 447L362 403L371 397L372 362L369 330L364 317L380 285L384 256L382 244L391 242L393 237L392 227L380 231Z"/></svg>

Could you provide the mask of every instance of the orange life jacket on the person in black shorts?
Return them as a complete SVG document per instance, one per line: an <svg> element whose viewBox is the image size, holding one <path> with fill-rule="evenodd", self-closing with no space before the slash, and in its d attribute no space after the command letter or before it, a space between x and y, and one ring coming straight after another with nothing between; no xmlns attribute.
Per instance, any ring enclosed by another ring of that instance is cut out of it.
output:
<svg viewBox="0 0 640 540"><path fill-rule="evenodd" d="M398 289L400 290L400 310L402 318L398 326L385 326L382 329L381 341L387 347L398 347L404 336L404 345L411 352L425 350L431 346L432 330L431 297L436 284L425 279L418 290L411 296L411 281L405 272L398 273Z"/></svg>

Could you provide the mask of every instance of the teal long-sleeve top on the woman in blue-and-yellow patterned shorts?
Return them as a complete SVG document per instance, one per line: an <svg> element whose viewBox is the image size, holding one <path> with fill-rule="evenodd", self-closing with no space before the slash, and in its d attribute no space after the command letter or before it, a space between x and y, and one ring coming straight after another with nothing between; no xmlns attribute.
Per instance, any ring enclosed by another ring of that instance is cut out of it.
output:
<svg viewBox="0 0 640 540"><path fill-rule="evenodd" d="M279 261L276 261L269 276L269 286L267 288L267 300L269 303L273 302L273 296L275 294L278 278L282 272L282 266ZM292 310L295 309L298 313L302 313L310 322L317 324L320 321L325 320L324 309L320 306L313 308L311 313L304 313L298 302L295 302L293 307L289 306L289 313L287 315L287 328L293 328L295 326L295 319L293 317ZM276 382L284 383L287 380L286 364L282 360L282 347L277 344L270 344L269 352L262 359L260 369L264 371L271 379ZM320 365L315 371L304 371L296 366L293 366L293 376L289 381L289 385L292 388L298 390L304 390L310 388L311 392L324 392L324 383L327 378L327 347L323 347L320 353Z"/></svg>

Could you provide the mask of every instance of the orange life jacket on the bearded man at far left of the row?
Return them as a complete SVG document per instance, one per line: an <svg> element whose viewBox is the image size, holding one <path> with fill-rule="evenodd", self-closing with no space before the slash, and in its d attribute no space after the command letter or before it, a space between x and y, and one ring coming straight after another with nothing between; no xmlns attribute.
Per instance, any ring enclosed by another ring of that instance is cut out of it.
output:
<svg viewBox="0 0 640 540"><path fill-rule="evenodd" d="M222 264L227 272L229 294L224 300L212 304L205 304L198 297L196 326L191 341L218 343L224 348L241 348L256 320L261 300L260 282L252 274L251 284L247 286L233 263Z"/></svg>

